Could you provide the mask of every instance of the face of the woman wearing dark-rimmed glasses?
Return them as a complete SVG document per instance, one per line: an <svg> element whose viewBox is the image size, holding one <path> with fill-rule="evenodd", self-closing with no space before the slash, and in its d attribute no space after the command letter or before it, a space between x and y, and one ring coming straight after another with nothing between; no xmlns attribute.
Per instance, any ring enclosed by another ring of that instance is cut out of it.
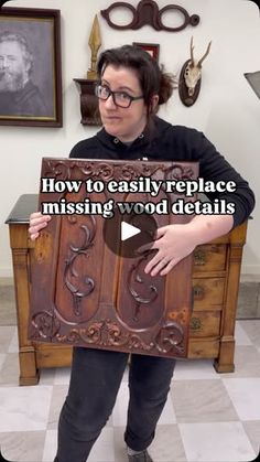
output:
<svg viewBox="0 0 260 462"><path fill-rule="evenodd" d="M123 92L130 96L142 96L138 76L128 67L108 65L101 77L101 85L112 92ZM106 131L122 142L133 141L147 125L147 106L143 98L131 103L128 108L118 107L112 95L107 100L99 99L99 111Z"/></svg>

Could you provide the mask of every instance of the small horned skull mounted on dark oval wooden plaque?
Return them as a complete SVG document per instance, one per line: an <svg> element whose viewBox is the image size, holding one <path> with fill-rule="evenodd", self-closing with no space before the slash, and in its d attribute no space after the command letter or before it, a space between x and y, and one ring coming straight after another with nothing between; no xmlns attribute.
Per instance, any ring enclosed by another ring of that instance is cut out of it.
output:
<svg viewBox="0 0 260 462"><path fill-rule="evenodd" d="M193 106L196 101L202 85L202 64L209 53L212 42L203 57L196 63L194 60L193 37L191 39L191 58L185 61L178 78L178 95L184 106Z"/></svg>

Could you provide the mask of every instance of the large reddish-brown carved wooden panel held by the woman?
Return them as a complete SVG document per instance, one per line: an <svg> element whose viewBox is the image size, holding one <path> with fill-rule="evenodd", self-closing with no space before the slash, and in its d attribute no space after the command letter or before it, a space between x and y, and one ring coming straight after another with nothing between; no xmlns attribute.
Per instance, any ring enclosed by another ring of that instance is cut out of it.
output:
<svg viewBox="0 0 260 462"><path fill-rule="evenodd" d="M42 192L40 205L50 202L160 202L171 205L184 195L166 193L86 192L85 181L194 180L197 163L43 159L42 179L82 180L77 193ZM195 201L196 197L188 197ZM158 227L186 223L191 215L154 215ZM154 255L134 258L111 251L104 239L107 219L101 215L53 215L35 241L32 256L32 296L29 336L33 341L80 345L160 356L187 355L192 311L193 256L166 277L143 269ZM120 247L118 228L115 241Z"/></svg>

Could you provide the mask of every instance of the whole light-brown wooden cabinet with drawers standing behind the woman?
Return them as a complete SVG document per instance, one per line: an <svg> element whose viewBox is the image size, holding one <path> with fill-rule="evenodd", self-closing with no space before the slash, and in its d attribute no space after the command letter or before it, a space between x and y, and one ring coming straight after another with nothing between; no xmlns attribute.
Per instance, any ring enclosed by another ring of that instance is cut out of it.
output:
<svg viewBox="0 0 260 462"><path fill-rule="evenodd" d="M7 223L13 258L17 298L20 385L33 385L44 367L68 366L72 347L28 340L31 253L29 216L37 208L37 196L22 195ZM188 358L213 358L217 372L234 370L235 320L242 246L247 223L194 253L194 308L189 324Z"/></svg>

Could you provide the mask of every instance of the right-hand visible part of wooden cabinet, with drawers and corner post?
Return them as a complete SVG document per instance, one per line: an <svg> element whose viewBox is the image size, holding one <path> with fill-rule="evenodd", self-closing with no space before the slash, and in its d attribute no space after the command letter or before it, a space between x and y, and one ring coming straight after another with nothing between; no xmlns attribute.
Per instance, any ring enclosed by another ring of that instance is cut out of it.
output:
<svg viewBox="0 0 260 462"><path fill-rule="evenodd" d="M235 321L247 223L194 251L194 308L188 357L214 358L219 373L235 368Z"/></svg>

